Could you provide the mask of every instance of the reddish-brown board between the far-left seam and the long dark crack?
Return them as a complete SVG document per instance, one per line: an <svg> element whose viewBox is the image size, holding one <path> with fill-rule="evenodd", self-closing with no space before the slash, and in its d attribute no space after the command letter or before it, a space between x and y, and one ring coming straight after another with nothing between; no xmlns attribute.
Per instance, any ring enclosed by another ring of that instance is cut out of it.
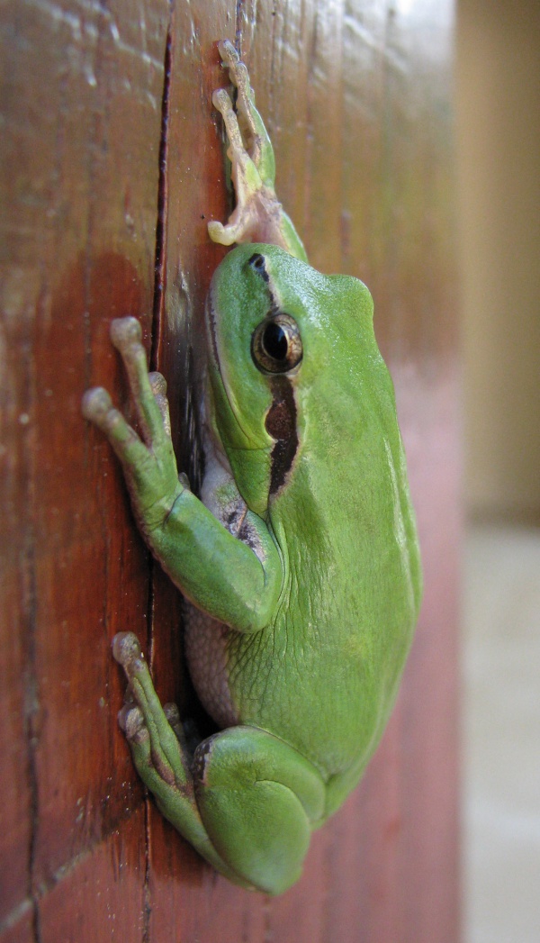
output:
<svg viewBox="0 0 540 943"><path fill-rule="evenodd" d="M78 10L70 12L72 28ZM117 728L123 682L110 639L126 626L144 632L148 597L147 552L117 463L81 421L80 398L96 382L119 398L111 318L129 312L150 327L165 33L158 16L147 24L144 6L123 0L81 11L80 28L67 57L55 46L62 62L74 63L58 112L65 144L57 159L64 198L85 184L84 205L75 202L64 221L80 248L69 253L66 245L52 284L45 273L33 356L35 474L42 478L34 505L35 669L43 718L35 869L45 882L125 815L118 784L136 781Z"/></svg>

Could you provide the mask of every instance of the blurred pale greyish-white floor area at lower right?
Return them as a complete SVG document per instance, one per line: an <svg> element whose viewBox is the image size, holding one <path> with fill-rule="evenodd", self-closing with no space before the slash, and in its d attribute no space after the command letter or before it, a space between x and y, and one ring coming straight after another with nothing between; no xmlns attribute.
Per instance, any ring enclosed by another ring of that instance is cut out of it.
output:
<svg viewBox="0 0 540 943"><path fill-rule="evenodd" d="M540 528L471 527L464 582L464 940L539 943Z"/></svg>

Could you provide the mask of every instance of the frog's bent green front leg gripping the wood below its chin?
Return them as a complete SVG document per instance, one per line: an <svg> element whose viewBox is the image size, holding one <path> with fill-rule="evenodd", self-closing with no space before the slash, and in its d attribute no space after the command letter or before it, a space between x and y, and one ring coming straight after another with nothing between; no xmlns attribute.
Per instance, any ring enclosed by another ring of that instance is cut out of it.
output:
<svg viewBox="0 0 540 943"><path fill-rule="evenodd" d="M90 389L83 412L108 438L123 465L144 538L188 599L239 632L268 625L282 587L281 557L264 521L248 512L257 554L225 529L179 478L172 449L165 381L149 377L135 318L111 324L136 405L142 438L105 389ZM154 387L154 389L153 389Z"/></svg>

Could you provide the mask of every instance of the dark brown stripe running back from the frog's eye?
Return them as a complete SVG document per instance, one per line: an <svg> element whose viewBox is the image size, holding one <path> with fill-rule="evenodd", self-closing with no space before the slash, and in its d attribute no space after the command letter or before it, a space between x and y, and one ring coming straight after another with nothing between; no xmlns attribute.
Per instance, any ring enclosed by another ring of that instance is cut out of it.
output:
<svg viewBox="0 0 540 943"><path fill-rule="evenodd" d="M271 451L270 494L274 494L285 484L298 450L296 429L296 403L292 385L286 376L272 377L270 382L272 405L268 412L265 426L276 443Z"/></svg>

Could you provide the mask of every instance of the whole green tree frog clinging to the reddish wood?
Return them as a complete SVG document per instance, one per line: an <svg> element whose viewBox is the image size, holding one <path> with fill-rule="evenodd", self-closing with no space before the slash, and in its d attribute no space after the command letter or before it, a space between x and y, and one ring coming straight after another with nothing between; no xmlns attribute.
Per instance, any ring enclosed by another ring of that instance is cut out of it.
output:
<svg viewBox="0 0 540 943"><path fill-rule="evenodd" d="M152 552L197 607L188 613L188 660L221 727L189 753L137 638L115 637L129 681L121 724L139 774L214 868L279 894L299 878L312 830L358 783L383 734L421 575L368 289L306 263L275 197L271 144L245 67L230 43L220 51L238 90L241 130L227 93L214 95L237 208L209 229L225 244L248 244L221 262L206 306L202 500L178 475L165 381L147 372L135 319L113 322L111 334L141 437L104 389L89 390L83 410L123 464ZM264 334L284 312L300 348L290 332L277 348Z"/></svg>

